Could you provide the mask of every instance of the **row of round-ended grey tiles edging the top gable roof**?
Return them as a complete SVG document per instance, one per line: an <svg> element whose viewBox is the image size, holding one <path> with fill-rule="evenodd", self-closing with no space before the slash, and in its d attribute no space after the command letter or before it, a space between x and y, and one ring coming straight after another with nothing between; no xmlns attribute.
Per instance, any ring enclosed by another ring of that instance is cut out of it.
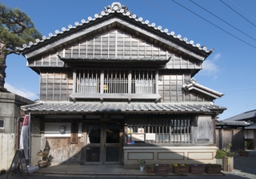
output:
<svg viewBox="0 0 256 179"><path fill-rule="evenodd" d="M36 46L37 44L45 42L51 38L57 37L60 34L65 34L67 31L76 29L79 26L86 26L87 24L90 24L90 22L97 21L97 19L100 19L100 18L103 18L110 14L115 14L115 13L122 14L124 17L130 18L130 19L134 19L134 22L140 22L140 23L142 23L143 26L147 26L148 28L153 28L154 30L158 30L158 31L162 32L163 34L166 34L172 38L178 39L179 41L183 42L186 45L196 47L196 48L198 48L198 50L203 50L206 53L213 51L213 50L207 50L206 46L201 46L199 43L194 44L193 40L188 41L187 38L182 38L182 36L180 34L175 35L174 31L171 31L170 33L168 33L169 30L167 30L167 29L162 30L162 26L156 26L155 23L150 24L150 22L148 20L143 21L142 18L138 18L136 14L133 14L132 12L130 12L130 10L128 10L127 6L121 5L121 3L119 3L119 2L113 2L111 6L106 6L104 8L104 10L102 10L102 12L100 12L98 14L94 14L94 17L88 17L87 21L85 19L82 19L81 23L75 22L74 23L75 26L69 25L68 28L62 27L62 30L55 30L54 34L50 33L49 37L42 36L42 39L36 39L35 43L29 42L29 44L24 44L23 48L20 50L29 49L31 46Z"/></svg>

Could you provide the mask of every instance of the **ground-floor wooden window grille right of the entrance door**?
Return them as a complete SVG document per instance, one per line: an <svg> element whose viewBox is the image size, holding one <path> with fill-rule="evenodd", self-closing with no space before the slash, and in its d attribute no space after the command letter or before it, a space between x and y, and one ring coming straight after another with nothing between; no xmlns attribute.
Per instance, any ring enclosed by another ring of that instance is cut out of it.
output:
<svg viewBox="0 0 256 179"><path fill-rule="evenodd" d="M188 144L191 143L190 119L138 119L127 120L127 141L133 140L135 133L144 133L144 140L135 143ZM146 140L148 133L154 140Z"/></svg>

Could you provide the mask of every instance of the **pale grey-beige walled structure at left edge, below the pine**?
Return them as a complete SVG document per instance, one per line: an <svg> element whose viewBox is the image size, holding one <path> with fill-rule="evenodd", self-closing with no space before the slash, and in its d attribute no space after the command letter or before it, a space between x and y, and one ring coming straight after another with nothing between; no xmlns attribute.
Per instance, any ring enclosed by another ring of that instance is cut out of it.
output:
<svg viewBox="0 0 256 179"><path fill-rule="evenodd" d="M14 93L0 92L0 169L8 170L18 149L21 105L34 103Z"/></svg>

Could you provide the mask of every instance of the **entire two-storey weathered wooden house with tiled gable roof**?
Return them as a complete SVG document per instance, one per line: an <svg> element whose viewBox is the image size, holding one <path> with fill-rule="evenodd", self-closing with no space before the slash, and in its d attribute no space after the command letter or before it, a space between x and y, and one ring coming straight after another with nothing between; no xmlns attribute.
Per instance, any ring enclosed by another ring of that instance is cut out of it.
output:
<svg viewBox="0 0 256 179"><path fill-rule="evenodd" d="M88 19L23 46L40 75L40 101L22 106L32 165L44 148L59 164L214 163L223 94L193 79L213 50L118 2Z"/></svg>

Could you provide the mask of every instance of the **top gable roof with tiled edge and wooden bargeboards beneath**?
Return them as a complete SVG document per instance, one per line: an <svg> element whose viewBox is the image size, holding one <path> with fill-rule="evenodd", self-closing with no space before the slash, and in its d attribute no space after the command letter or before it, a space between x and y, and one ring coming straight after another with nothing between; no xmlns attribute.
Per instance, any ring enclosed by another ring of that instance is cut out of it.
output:
<svg viewBox="0 0 256 179"><path fill-rule="evenodd" d="M75 26L69 26L69 29L56 30L55 34L50 34L49 38L43 37L42 40L37 39L36 43L31 42L28 46L24 45L22 54L31 59L38 54L49 54L50 51L57 50L62 46L69 46L80 42L81 39L94 37L114 29L122 30L126 34L132 34L161 49L194 60L203 61L213 51L206 50L205 46L201 48L200 44L194 45L193 41L186 42L187 38L175 36L173 32L168 33L168 30L162 30L161 26L155 27L154 23L143 22L142 18L137 18L127 7L117 3L106 7L102 13L96 14L95 18L89 17L88 20L88 22L85 20L82 20L82 23L76 22Z"/></svg>

